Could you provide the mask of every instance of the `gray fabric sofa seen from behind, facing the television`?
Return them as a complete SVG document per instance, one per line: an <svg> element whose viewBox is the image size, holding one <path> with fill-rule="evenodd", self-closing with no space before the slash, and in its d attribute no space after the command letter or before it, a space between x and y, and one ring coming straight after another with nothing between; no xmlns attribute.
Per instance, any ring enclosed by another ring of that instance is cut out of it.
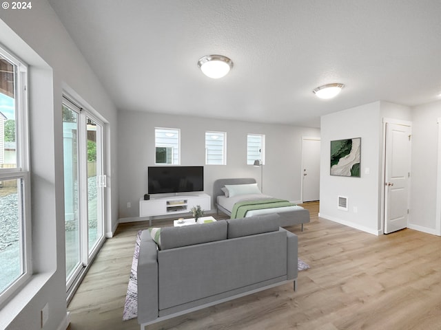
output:
<svg viewBox="0 0 441 330"><path fill-rule="evenodd" d="M141 234L138 322L146 325L294 282L298 239L277 214Z"/></svg>

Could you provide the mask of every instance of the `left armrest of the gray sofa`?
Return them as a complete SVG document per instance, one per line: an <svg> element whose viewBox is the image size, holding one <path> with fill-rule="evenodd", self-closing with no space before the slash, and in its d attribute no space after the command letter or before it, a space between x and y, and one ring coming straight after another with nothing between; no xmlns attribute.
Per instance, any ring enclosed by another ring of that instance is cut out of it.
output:
<svg viewBox="0 0 441 330"><path fill-rule="evenodd" d="M148 230L141 234L138 259L138 322L158 318L158 250Z"/></svg>

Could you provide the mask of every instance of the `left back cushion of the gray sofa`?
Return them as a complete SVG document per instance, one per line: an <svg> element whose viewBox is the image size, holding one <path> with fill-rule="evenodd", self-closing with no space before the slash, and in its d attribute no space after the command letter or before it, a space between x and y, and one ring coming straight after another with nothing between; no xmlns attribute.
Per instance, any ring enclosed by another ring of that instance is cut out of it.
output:
<svg viewBox="0 0 441 330"><path fill-rule="evenodd" d="M161 250L227 239L227 221L161 228Z"/></svg>

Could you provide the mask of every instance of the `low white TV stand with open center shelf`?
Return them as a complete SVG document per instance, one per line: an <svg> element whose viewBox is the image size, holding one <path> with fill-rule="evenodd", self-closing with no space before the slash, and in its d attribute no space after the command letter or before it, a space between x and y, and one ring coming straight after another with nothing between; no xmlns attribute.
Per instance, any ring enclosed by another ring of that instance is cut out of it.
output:
<svg viewBox="0 0 441 330"><path fill-rule="evenodd" d="M212 208L212 198L207 194L152 197L148 201L139 199L139 217L188 213L200 205L203 210ZM151 223L150 223L151 224Z"/></svg>

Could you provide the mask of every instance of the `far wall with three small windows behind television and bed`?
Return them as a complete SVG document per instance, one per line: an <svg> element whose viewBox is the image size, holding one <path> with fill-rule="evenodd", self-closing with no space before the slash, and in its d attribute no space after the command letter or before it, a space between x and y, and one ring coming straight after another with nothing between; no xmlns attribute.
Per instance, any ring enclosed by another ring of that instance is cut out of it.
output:
<svg viewBox="0 0 441 330"><path fill-rule="evenodd" d="M265 134L263 192L291 201L299 201L301 196L302 136L320 136L318 129L296 126L120 111L120 218L139 217L139 199L147 193L147 166L154 166L155 127L181 129L181 165L185 166L205 165L205 131L227 132L227 165L205 166L208 195L212 195L213 182L220 178L255 177L260 186L260 168L246 164L247 133ZM127 208L127 202L132 208Z"/></svg>

